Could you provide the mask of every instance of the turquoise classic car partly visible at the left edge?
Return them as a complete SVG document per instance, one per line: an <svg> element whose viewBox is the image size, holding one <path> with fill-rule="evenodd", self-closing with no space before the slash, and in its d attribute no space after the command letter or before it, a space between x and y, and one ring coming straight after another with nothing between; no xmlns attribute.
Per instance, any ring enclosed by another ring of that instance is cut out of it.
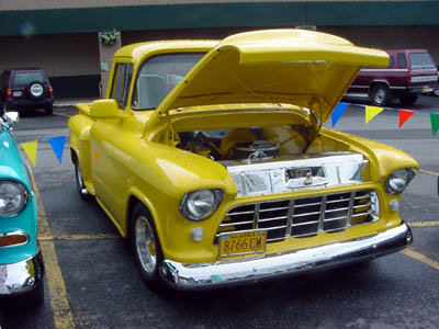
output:
<svg viewBox="0 0 439 329"><path fill-rule="evenodd" d="M42 304L44 263L37 236L32 182L11 126L16 112L0 117L0 296Z"/></svg>

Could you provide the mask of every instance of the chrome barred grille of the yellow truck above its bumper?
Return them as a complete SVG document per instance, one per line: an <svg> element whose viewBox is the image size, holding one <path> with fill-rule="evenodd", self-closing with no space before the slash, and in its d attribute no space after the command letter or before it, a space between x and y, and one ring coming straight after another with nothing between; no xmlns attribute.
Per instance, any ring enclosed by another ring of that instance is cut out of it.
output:
<svg viewBox="0 0 439 329"><path fill-rule="evenodd" d="M373 191L352 191L280 201L243 204L232 208L216 234L266 229L267 241L312 237L374 222L378 197Z"/></svg>

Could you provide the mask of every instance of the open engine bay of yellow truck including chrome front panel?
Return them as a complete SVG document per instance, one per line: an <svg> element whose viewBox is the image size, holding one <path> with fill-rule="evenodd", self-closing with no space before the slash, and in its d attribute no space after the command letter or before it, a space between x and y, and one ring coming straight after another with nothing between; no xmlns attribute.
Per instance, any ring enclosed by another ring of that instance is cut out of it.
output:
<svg viewBox="0 0 439 329"><path fill-rule="evenodd" d="M292 127L184 132L179 148L217 161L235 180L238 196L358 184L362 154L307 140Z"/></svg>

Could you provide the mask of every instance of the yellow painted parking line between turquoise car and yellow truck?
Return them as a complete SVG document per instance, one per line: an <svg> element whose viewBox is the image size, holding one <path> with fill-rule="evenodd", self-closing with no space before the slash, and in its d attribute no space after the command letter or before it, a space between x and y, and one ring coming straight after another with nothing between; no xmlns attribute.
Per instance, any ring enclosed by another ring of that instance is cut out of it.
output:
<svg viewBox="0 0 439 329"><path fill-rule="evenodd" d="M40 191L36 186L32 167L27 161L26 164L37 200L38 232L43 236L52 236L47 223L46 212L44 211L43 200L41 198ZM50 307L54 315L55 328L75 328L74 317L70 311L69 303L67 300L66 285L64 283L61 269L59 268L58 258L55 251L55 245L52 240L47 240L41 241L40 246L43 251L44 264L46 268L46 280L48 284Z"/></svg>

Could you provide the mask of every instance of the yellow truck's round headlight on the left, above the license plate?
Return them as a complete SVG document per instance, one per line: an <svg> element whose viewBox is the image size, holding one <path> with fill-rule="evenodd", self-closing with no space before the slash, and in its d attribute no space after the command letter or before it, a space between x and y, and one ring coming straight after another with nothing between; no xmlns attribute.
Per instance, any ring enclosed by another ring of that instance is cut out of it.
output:
<svg viewBox="0 0 439 329"><path fill-rule="evenodd" d="M180 203L180 212L189 220L202 220L216 211L223 198L222 190L189 192Z"/></svg>

